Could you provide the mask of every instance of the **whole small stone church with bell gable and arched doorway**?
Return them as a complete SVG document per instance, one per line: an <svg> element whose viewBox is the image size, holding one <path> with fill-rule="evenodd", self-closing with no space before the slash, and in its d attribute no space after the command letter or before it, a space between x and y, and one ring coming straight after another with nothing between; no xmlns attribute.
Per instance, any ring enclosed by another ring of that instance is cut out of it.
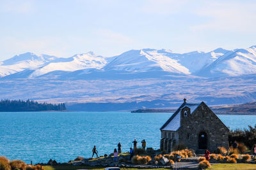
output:
<svg viewBox="0 0 256 170"><path fill-rule="evenodd" d="M160 148L168 152L179 144L195 151L213 152L218 146L228 148L229 129L204 102L186 103L184 99L160 130Z"/></svg>

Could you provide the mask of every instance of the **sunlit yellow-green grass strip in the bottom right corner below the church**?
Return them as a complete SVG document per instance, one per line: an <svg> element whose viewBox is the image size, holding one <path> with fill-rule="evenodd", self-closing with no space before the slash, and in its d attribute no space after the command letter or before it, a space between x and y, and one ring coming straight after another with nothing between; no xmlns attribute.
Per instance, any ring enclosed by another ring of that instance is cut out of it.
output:
<svg viewBox="0 0 256 170"><path fill-rule="evenodd" d="M255 170L256 164L214 164L207 170Z"/></svg>

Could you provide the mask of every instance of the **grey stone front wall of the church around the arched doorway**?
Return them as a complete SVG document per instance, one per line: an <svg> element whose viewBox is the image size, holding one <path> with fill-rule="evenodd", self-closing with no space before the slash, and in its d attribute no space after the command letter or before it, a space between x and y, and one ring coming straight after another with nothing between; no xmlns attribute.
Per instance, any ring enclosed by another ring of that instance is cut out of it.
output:
<svg viewBox="0 0 256 170"><path fill-rule="evenodd" d="M218 146L228 148L228 129L221 120L204 103L200 104L193 114L181 115L179 143L198 150L200 132L207 134L207 149L210 152Z"/></svg>

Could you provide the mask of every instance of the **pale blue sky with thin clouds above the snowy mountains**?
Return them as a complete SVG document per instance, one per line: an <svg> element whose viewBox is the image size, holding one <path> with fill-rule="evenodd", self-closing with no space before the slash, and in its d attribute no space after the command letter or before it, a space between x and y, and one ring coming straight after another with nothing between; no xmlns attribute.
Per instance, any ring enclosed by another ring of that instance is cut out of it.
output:
<svg viewBox="0 0 256 170"><path fill-rule="evenodd" d="M24 52L108 57L256 45L256 1L1 0L0 23L0 60Z"/></svg>

